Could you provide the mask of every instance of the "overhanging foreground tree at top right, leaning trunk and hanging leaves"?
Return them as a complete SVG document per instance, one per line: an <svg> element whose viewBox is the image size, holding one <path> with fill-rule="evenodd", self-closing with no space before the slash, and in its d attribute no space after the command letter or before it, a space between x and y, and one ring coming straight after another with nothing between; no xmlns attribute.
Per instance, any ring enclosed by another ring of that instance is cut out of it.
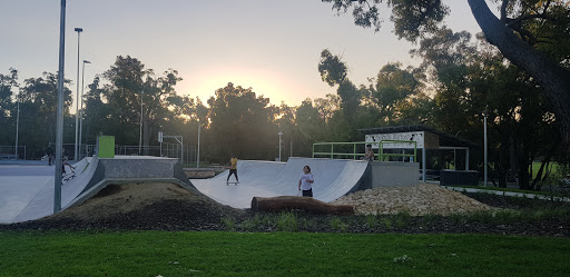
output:
<svg viewBox="0 0 570 277"><path fill-rule="evenodd" d="M356 26L381 27L377 4L382 0L322 0L332 2L333 9L346 12L353 8ZM392 8L391 20L395 23L399 38L416 41L425 34L438 30L439 23L449 13L449 8L441 0L392 0L386 1ZM548 43L564 46L570 32L567 1L530 1L502 0L501 18L497 18L484 0L468 0L471 11L483 30L487 40L495 46L512 63L524 69L546 91L546 98L553 107L563 140L570 142L570 71L568 70L568 53L546 56L542 43L535 32L543 29L525 29L528 27L546 26L558 36L551 37ZM558 39L554 41L554 39ZM568 46L568 43L566 43ZM568 49L568 47L563 47Z"/></svg>

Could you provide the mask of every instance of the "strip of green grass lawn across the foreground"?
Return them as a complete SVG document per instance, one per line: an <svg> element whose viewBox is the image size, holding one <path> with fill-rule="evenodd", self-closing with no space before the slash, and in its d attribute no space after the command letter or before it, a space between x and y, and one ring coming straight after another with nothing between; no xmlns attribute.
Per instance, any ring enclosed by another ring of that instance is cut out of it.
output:
<svg viewBox="0 0 570 277"><path fill-rule="evenodd" d="M1 231L0 276L570 276L569 238Z"/></svg>

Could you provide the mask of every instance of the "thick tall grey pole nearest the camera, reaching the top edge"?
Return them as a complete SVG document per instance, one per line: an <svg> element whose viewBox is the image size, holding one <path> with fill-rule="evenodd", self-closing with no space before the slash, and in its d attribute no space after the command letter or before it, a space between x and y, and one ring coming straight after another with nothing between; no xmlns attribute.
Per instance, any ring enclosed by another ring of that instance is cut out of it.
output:
<svg viewBox="0 0 570 277"><path fill-rule="evenodd" d="M61 149L63 149L63 65L66 57L66 0L61 0L59 21L58 111L56 123L56 178L53 180L53 214L61 210Z"/></svg>

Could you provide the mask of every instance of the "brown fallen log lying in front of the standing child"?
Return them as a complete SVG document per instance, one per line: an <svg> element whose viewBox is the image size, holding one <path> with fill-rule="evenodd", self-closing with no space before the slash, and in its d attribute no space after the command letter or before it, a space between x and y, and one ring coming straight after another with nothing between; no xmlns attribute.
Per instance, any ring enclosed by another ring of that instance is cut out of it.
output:
<svg viewBox="0 0 570 277"><path fill-rule="evenodd" d="M276 196L276 197L254 197L252 199L252 210L254 211L281 211L301 209L316 214L331 215L352 215L354 207L352 205L333 205L320 201L313 197L299 196Z"/></svg>

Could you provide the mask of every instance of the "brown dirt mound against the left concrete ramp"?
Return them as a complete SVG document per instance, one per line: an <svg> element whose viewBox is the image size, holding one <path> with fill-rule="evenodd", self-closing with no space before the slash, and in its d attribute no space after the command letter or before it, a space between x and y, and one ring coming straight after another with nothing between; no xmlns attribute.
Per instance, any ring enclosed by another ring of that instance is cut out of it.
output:
<svg viewBox="0 0 570 277"><path fill-rule="evenodd" d="M36 228L218 229L243 210L220 205L177 184L108 185L95 197L31 225Z"/></svg>

